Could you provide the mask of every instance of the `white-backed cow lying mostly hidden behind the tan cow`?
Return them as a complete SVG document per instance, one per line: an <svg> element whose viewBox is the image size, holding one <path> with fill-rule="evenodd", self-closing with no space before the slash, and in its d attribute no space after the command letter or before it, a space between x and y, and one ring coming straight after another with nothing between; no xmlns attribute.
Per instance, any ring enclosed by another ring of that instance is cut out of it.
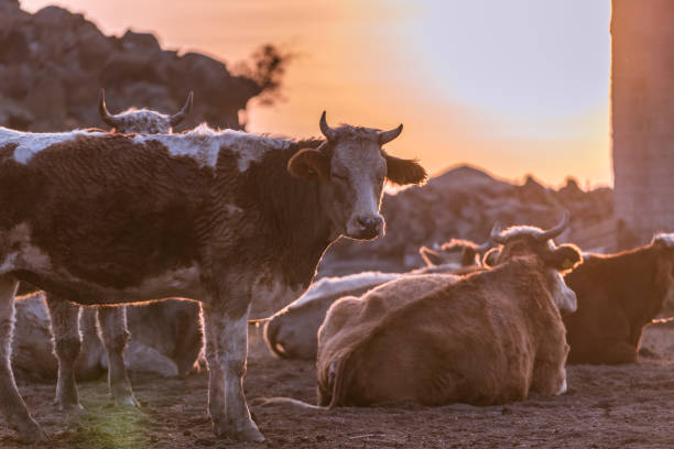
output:
<svg viewBox="0 0 674 449"><path fill-rule="evenodd" d="M407 274L459 273L479 269L479 255L489 243L477 245L467 240L450 240L434 251L420 249L427 266ZM472 254L469 258L467 254ZM458 256L458 258L457 258ZM461 270L463 269L463 270ZM367 272L343 277L325 277L309 287L296 302L276 313L264 325L264 339L271 351L283 359L315 360L318 328L330 305L343 296L366 292L403 274Z"/></svg>

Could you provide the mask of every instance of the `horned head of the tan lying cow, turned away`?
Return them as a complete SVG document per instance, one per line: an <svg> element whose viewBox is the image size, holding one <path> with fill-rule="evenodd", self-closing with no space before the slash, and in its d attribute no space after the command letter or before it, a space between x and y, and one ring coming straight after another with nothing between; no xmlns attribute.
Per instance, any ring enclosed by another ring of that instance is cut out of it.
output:
<svg viewBox="0 0 674 449"><path fill-rule="evenodd" d="M485 255L482 263L488 266L501 264L518 256L535 256L544 266L545 283L561 311L575 311L576 294L564 283L562 273L573 270L583 261L580 250L574 244L556 247L553 238L568 226L568 213L552 229L542 230L533 226L514 226L501 231L497 222L491 239L499 243Z"/></svg>

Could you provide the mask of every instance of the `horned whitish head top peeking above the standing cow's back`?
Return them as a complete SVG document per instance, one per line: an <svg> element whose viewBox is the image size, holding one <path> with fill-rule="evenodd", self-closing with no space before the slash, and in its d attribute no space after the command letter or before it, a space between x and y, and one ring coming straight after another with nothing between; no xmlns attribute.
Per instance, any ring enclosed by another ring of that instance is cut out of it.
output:
<svg viewBox="0 0 674 449"><path fill-rule="evenodd" d="M192 110L194 94L189 92L185 106L173 116L166 116L149 109L128 109L116 116L108 111L106 91L100 89L98 113L100 119L121 134L171 134L173 127L182 122Z"/></svg>

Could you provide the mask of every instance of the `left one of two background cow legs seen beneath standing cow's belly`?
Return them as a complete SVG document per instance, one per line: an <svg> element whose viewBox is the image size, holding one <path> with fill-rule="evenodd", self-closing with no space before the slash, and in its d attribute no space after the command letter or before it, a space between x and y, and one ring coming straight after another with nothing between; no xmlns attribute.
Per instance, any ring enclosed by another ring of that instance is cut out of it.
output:
<svg viewBox="0 0 674 449"><path fill-rule="evenodd" d="M54 355L58 360L56 405L62 410L81 409L75 384L75 361L81 349L79 307L48 292L46 305L52 322Z"/></svg>

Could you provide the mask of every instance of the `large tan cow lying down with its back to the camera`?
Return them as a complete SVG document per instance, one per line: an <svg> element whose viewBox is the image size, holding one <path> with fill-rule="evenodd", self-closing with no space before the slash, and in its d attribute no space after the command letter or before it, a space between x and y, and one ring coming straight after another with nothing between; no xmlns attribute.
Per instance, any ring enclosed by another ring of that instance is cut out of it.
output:
<svg viewBox="0 0 674 449"><path fill-rule="evenodd" d="M576 298L559 271L581 255L548 239L529 244L547 234L511 228L501 234L499 266L441 276L435 288L414 288L432 283L427 276L403 277L336 302L318 333L319 405L500 404L530 390L564 393L568 344L559 309L575 310Z"/></svg>

